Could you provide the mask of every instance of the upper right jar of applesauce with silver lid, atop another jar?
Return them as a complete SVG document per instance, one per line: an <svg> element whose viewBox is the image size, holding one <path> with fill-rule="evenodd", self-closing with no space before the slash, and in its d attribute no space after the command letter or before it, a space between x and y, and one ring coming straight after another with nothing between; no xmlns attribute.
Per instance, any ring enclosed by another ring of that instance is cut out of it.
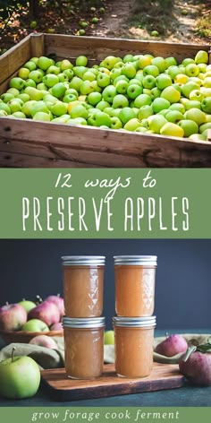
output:
<svg viewBox="0 0 211 423"><path fill-rule="evenodd" d="M129 317L153 315L156 256L114 256L114 274L116 315Z"/></svg>

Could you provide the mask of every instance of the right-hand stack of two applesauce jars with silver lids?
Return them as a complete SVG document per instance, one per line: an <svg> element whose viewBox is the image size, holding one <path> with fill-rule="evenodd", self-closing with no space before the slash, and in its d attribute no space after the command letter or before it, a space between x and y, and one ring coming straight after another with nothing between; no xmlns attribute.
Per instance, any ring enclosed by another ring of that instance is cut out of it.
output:
<svg viewBox="0 0 211 423"><path fill-rule="evenodd" d="M114 256L115 370L122 377L146 377L153 367L156 327L156 256Z"/></svg>

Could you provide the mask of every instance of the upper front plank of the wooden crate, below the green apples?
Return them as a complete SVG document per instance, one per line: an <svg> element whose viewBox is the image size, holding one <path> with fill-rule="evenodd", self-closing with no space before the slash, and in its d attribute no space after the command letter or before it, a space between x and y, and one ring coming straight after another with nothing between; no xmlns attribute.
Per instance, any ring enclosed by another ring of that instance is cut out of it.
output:
<svg viewBox="0 0 211 423"><path fill-rule="evenodd" d="M1 145L6 142L25 142L28 148L31 143L31 155L35 154L35 143L36 146L45 146L46 149L55 152L58 160L72 161L72 151L75 150L78 151L76 154L80 157L79 161L86 162L87 151L90 151L93 156L92 165L96 166L211 167L210 142L192 142L180 138L165 138L161 135L58 125L31 120L23 122L22 119L13 120L7 117L1 118L1 124L0 151ZM63 149L65 152L61 154ZM70 157L66 155L69 149ZM97 155L97 153L106 153L106 160L105 155ZM110 161L110 154L115 154L113 156L115 160ZM103 161L101 161L102 157ZM133 161L132 158L134 158Z"/></svg>

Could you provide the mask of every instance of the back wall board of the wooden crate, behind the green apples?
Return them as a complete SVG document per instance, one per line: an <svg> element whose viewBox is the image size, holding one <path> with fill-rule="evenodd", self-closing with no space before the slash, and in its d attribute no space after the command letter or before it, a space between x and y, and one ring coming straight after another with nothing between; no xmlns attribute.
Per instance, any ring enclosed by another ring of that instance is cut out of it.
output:
<svg viewBox="0 0 211 423"><path fill-rule="evenodd" d="M185 57L194 57L203 48L210 53L210 46L198 44L176 44L137 39L109 39L97 37L76 37L61 34L45 34L46 54L55 53L58 58L89 56L99 61L105 56L124 56L127 53L152 54L154 56L175 56L182 61Z"/></svg>

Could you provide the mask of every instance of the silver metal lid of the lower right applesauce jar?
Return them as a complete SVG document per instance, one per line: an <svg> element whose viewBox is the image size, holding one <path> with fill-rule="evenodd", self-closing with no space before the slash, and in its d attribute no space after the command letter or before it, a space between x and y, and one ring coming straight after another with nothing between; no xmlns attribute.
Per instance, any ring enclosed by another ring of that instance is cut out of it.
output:
<svg viewBox="0 0 211 423"><path fill-rule="evenodd" d="M135 327L140 329L156 327L156 315L149 317L113 317L114 326Z"/></svg>

